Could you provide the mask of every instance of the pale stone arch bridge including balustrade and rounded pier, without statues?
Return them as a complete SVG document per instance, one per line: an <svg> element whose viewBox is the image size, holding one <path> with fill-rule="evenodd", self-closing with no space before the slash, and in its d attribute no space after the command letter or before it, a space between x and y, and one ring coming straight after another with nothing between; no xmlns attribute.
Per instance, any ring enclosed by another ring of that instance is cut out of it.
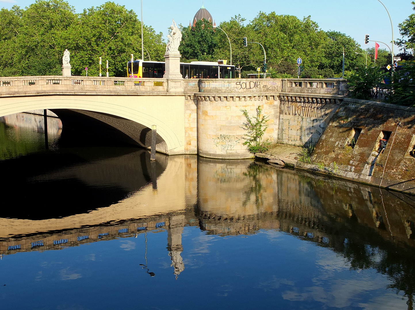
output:
<svg viewBox="0 0 415 310"><path fill-rule="evenodd" d="M242 144L241 110L254 116L261 107L268 116L264 138L271 142L316 143L345 86L339 79L11 77L0 78L0 116L50 109L61 117L63 130L90 120L144 148L156 125L161 153L244 159L252 155Z"/></svg>

